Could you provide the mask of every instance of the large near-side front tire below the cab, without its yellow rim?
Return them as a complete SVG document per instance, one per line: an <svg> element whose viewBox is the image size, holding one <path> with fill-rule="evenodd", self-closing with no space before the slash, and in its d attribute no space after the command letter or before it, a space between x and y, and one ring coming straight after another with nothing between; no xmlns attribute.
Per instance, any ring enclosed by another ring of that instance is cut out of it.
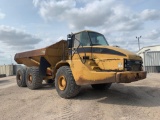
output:
<svg viewBox="0 0 160 120"><path fill-rule="evenodd" d="M60 90L58 85L58 79L60 76L64 76L66 79L66 87L64 90ZM58 69L55 78L55 87L59 96L66 99L73 98L76 95L78 95L81 88L79 85L75 83L72 71L69 66L62 66Z"/></svg>

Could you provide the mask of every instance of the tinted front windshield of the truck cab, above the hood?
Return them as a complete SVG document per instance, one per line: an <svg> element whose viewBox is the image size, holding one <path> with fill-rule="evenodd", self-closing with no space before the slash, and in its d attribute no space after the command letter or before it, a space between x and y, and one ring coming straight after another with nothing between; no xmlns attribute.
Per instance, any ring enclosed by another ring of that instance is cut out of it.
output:
<svg viewBox="0 0 160 120"><path fill-rule="evenodd" d="M88 32L88 34L91 39L91 44L93 46L94 45L109 45L104 35L96 33L96 32Z"/></svg>

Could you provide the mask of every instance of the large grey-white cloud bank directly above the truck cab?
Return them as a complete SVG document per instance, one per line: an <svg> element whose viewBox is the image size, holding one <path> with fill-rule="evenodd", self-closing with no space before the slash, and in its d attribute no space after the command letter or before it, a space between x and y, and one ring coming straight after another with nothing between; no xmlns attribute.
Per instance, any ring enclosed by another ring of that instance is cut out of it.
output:
<svg viewBox="0 0 160 120"><path fill-rule="evenodd" d="M68 22L70 28L107 27L113 31L141 29L142 21L127 6L115 0L81 1L76 0L34 0L39 14L48 21Z"/></svg>

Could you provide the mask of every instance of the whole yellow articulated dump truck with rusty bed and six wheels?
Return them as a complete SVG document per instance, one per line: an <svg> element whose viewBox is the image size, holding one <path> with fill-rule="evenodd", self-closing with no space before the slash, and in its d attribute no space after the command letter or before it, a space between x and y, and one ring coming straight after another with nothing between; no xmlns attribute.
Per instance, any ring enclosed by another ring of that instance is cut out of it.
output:
<svg viewBox="0 0 160 120"><path fill-rule="evenodd" d="M55 83L62 98L72 98L82 85L108 89L112 83L130 83L146 78L142 58L119 47L109 46L104 35L84 30L69 34L46 48L17 53L15 61L26 69L17 71L17 85L42 87Z"/></svg>

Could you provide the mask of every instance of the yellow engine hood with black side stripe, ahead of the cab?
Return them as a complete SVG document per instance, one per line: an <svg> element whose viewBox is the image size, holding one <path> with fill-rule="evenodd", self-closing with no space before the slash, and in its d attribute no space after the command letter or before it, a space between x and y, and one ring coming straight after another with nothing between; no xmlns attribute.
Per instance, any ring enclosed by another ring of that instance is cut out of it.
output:
<svg viewBox="0 0 160 120"><path fill-rule="evenodd" d="M99 67L101 70L123 71L126 69L126 63L128 61L132 62L132 66L129 66L131 70L137 71L141 68L141 62L139 61L141 61L142 58L140 56L119 47L94 46L92 47L92 56L97 64L97 67ZM127 65L128 64L129 62Z"/></svg>

